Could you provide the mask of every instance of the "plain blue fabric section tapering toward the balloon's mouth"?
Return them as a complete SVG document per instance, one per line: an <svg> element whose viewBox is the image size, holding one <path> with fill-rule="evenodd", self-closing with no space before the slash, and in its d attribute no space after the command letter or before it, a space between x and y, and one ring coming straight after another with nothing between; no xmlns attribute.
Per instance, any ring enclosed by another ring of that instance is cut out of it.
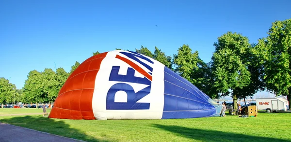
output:
<svg viewBox="0 0 291 142"><path fill-rule="evenodd" d="M196 86L165 67L162 119L217 116L209 99Z"/></svg>

